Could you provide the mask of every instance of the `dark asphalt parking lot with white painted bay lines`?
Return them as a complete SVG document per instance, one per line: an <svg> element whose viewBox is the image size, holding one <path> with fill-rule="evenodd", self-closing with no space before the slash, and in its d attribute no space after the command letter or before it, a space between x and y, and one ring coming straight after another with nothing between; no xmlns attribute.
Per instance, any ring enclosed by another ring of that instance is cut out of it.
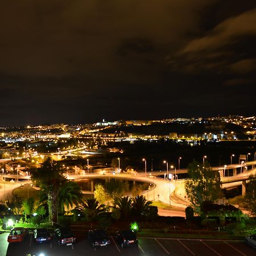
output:
<svg viewBox="0 0 256 256"><path fill-rule="evenodd" d="M0 235L0 242L7 243L8 233ZM246 246L244 241L220 241L220 240L184 240L172 238L140 238L138 247L129 247L122 249L113 237L112 245L94 249L92 243L85 234L77 235L77 242L73 246L59 246L53 239L50 243L36 245L32 235L28 234L22 243L10 243L7 248L6 256L25 256L27 253L34 253L39 256L44 253L45 256L53 255L247 255L255 256L256 250ZM5 245L1 244L1 249ZM3 253L3 251L1 252ZM1 254L5 255L5 254Z"/></svg>

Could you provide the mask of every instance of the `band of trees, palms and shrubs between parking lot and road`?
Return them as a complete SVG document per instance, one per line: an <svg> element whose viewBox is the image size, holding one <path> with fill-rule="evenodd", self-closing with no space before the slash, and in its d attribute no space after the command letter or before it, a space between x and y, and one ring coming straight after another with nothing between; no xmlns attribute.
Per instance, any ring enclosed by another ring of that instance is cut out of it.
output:
<svg viewBox="0 0 256 256"><path fill-rule="evenodd" d="M18 193L0 203L1 226L10 218L16 226L35 228L54 225L76 226L76 229L104 228L109 232L127 229L137 222L141 236L172 237L243 237L256 232L256 220L247 217L234 205L218 204L222 196L220 177L204 166L189 164L189 179L185 185L191 206L185 210L186 218L158 216L158 208L168 208L160 201L147 201L141 194L146 187L137 185L132 197L125 196L126 187L112 179L106 185L96 184L94 195L84 199L81 189L67 180L63 168L47 159L40 168L31 171L35 190L24 185ZM127 185L127 184L126 184ZM245 204L255 214L255 180L248 184ZM169 207L170 208L170 207ZM10 228L10 226L9 226ZM189 233L189 235L188 235Z"/></svg>

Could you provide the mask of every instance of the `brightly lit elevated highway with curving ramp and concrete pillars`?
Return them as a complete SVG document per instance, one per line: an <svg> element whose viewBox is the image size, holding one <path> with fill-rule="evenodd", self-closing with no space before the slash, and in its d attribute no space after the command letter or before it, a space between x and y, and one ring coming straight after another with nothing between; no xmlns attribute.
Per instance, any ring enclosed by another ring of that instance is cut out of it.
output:
<svg viewBox="0 0 256 256"><path fill-rule="evenodd" d="M256 177L255 164L256 164L256 161L241 163L241 164L230 164L229 166L213 167L212 170L220 172L222 188L234 187L242 184L242 193L244 195L246 181L251 179L250 175L254 175L253 177ZM248 171L248 169L250 170ZM236 175L224 176L228 174L226 170L233 170L232 174L233 175L236 174ZM240 171L240 173L237 174L237 171ZM68 179L71 179L71 180L115 178L115 179L127 179L127 180L147 182L151 185L151 188L142 193L147 200L158 199L163 203L185 209L185 207L189 205L189 202L184 200L184 197L177 196L175 200L176 194L177 195L178 193L184 194L184 180L179 179L179 174L185 174L185 173L187 173L187 169L168 171L168 174L174 174L174 177L176 177L175 180L163 179L163 178L157 177L159 175L167 174L167 171L154 171L154 172L147 172L147 173L134 172L133 174L128 174L128 173L113 174L113 173L107 173L107 172L105 174L79 174L79 175L72 174L72 175L68 175L67 177ZM30 176L23 176L19 174L18 175L1 175L1 176L4 179L13 179L13 181L30 180ZM93 184L93 180L91 180L92 191L93 191L93 188L94 188L94 184Z"/></svg>

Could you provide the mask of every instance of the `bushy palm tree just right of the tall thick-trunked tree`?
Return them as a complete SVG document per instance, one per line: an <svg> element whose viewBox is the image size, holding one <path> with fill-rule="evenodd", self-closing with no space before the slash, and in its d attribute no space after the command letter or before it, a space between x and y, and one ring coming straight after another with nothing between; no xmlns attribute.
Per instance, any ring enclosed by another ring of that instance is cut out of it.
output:
<svg viewBox="0 0 256 256"><path fill-rule="evenodd" d="M82 203L82 191L79 185L73 181L66 181L60 187L59 196L59 210L60 213L64 213L64 208L69 207L73 208L73 205L76 207Z"/></svg>

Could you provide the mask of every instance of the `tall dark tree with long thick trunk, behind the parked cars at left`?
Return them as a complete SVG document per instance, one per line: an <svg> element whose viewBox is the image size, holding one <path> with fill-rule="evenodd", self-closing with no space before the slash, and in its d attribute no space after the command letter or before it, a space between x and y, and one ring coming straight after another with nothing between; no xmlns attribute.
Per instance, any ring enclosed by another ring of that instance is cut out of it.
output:
<svg viewBox="0 0 256 256"><path fill-rule="evenodd" d="M65 183L64 170L55 161L48 158L42 167L31 170L31 179L47 194L49 221L57 222L58 196L61 185Z"/></svg>

